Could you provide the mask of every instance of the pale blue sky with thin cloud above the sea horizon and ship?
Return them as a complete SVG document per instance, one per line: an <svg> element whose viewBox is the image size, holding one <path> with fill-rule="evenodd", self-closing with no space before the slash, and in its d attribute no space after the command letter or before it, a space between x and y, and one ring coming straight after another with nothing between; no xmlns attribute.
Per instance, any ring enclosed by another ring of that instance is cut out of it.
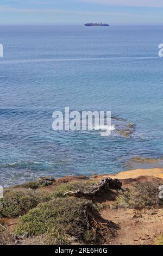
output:
<svg viewBox="0 0 163 256"><path fill-rule="evenodd" d="M163 0L0 0L0 25L163 25Z"/></svg>

